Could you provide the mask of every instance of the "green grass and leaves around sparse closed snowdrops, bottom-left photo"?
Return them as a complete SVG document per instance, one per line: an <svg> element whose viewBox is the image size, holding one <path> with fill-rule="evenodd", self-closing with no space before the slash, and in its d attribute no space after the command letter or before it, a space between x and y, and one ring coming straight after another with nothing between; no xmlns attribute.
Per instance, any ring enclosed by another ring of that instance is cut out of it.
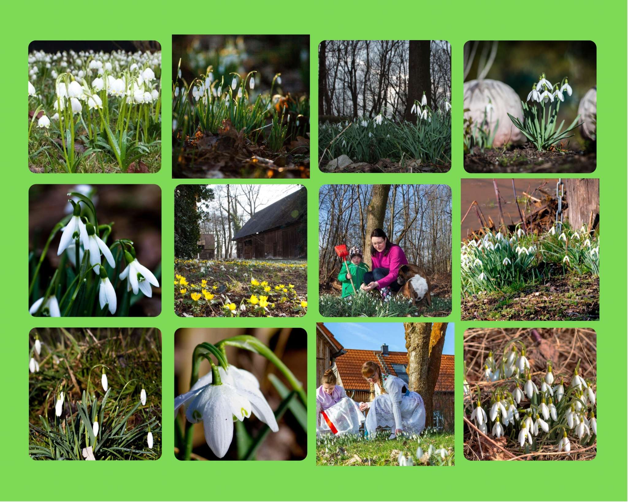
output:
<svg viewBox="0 0 628 502"><path fill-rule="evenodd" d="M35 338L42 348L36 354ZM161 456L161 334L155 329L31 331L29 454L37 460L156 460ZM107 391L100 382L107 368ZM146 404L140 400L146 390ZM55 403L65 395L60 416ZM99 431L94 437L94 421ZM153 434L153 448L147 445Z"/></svg>

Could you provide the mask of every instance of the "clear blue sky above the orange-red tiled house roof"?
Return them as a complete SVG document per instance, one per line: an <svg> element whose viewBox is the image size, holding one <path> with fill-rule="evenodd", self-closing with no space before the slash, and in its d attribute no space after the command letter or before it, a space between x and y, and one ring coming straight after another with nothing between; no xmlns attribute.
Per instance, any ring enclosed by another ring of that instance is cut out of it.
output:
<svg viewBox="0 0 628 502"><path fill-rule="evenodd" d="M325 323L342 346L347 349L406 351L403 323ZM453 323L447 324L443 354L453 354Z"/></svg>

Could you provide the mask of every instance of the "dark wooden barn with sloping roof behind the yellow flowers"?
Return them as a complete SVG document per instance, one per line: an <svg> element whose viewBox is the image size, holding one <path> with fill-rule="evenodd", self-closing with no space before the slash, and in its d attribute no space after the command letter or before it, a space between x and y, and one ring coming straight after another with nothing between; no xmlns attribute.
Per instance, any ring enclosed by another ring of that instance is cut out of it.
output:
<svg viewBox="0 0 628 502"><path fill-rule="evenodd" d="M305 187L255 213L232 238L242 259L304 259L307 254Z"/></svg>

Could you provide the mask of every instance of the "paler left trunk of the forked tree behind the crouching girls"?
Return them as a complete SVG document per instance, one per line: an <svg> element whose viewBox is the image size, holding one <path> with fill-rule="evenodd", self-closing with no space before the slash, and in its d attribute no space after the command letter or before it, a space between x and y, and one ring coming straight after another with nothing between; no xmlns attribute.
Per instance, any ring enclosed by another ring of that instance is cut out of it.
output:
<svg viewBox="0 0 628 502"><path fill-rule="evenodd" d="M431 323L403 323L408 350L408 387L426 401Z"/></svg>

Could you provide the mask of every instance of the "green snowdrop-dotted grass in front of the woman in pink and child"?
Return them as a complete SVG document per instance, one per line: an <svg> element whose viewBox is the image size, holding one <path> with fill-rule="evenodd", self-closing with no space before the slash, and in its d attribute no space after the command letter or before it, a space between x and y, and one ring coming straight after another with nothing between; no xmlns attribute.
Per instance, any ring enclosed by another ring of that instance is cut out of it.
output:
<svg viewBox="0 0 628 502"><path fill-rule="evenodd" d="M353 317L445 317L452 312L452 298L432 296L431 307L419 302L417 306L407 299L395 297L389 302L371 295L358 293L357 296L340 298L333 294L321 294L318 301L320 314L329 318Z"/></svg>

